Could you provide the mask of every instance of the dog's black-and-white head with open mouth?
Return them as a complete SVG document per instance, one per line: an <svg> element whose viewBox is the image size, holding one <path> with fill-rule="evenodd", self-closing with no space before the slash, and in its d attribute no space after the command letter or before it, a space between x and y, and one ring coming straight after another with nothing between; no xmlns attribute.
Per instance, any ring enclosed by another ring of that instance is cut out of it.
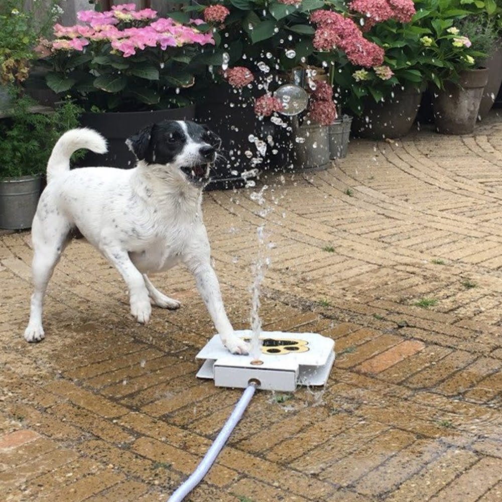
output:
<svg viewBox="0 0 502 502"><path fill-rule="evenodd" d="M203 184L209 180L209 164L216 159L221 140L195 122L164 120L138 131L126 144L145 164L179 170L188 181Z"/></svg>

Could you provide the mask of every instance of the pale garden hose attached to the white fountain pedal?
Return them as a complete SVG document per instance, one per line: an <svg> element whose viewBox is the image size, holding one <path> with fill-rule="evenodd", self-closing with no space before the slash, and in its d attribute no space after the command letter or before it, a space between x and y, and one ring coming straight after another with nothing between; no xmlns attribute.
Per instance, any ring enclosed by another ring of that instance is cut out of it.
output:
<svg viewBox="0 0 502 502"><path fill-rule="evenodd" d="M256 386L256 383L250 382L245 388L242 396L235 405L232 414L228 417L228 420L225 422L225 425L209 450L207 450L207 453L201 460L200 464L193 471L190 477L171 495L167 502L181 502L202 481L202 478L207 474L207 471L213 465L219 452L223 446L225 446L230 434L241 419L249 401L251 401L251 398L255 394Z"/></svg>

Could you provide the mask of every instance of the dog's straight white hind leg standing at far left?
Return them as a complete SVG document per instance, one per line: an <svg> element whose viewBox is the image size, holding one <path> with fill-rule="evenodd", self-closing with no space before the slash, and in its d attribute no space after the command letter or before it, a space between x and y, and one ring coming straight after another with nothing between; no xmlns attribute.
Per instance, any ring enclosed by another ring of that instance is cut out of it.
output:
<svg viewBox="0 0 502 502"><path fill-rule="evenodd" d="M47 224L44 226L44 223L36 214L32 225L34 292L30 303L30 320L25 330L25 339L28 342L39 342L45 337L42 327L44 295L54 267L68 243L70 230L70 224L61 216L52 217L50 227Z"/></svg>

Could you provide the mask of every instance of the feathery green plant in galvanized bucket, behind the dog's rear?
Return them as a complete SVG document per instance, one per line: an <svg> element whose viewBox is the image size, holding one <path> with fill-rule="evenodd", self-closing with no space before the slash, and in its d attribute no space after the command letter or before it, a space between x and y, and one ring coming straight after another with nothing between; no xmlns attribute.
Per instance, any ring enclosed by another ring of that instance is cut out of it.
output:
<svg viewBox="0 0 502 502"><path fill-rule="evenodd" d="M81 109L65 101L52 111L34 113L37 102L12 88L11 106L0 119L0 228L31 226L42 175L59 136L78 126Z"/></svg>

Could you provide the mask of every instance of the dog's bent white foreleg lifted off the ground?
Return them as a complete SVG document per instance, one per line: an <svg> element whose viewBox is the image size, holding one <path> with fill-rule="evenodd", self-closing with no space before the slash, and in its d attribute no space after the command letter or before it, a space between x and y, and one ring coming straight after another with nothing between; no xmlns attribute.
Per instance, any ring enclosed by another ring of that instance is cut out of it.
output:
<svg viewBox="0 0 502 502"><path fill-rule="evenodd" d="M134 266L127 251L113 245L101 245L103 255L115 266L129 288L131 314L138 322L146 324L150 320L152 306L148 290L141 272Z"/></svg>

